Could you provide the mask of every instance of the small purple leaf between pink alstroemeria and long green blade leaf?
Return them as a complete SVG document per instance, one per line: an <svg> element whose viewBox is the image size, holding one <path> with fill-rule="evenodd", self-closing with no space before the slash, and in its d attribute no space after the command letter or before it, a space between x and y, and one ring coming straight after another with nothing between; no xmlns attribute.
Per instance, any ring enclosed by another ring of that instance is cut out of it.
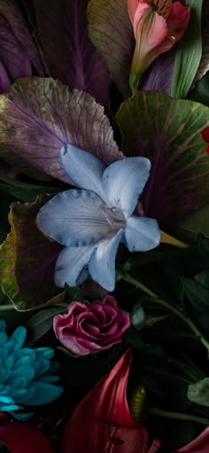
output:
<svg viewBox="0 0 209 453"><path fill-rule="evenodd" d="M172 77L174 73L175 50L159 55L152 63L143 78L141 90L160 91L171 94Z"/></svg>

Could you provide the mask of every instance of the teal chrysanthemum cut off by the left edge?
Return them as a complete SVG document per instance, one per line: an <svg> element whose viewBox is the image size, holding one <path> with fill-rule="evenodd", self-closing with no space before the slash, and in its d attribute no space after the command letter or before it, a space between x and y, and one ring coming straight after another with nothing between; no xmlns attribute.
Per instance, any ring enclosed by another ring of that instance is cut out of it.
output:
<svg viewBox="0 0 209 453"><path fill-rule="evenodd" d="M57 363L50 362L53 349L24 347L26 337L26 328L18 327L9 338L6 324L0 320L0 410L18 419L33 415L26 407L52 402L63 391L54 385L59 378L53 374Z"/></svg>

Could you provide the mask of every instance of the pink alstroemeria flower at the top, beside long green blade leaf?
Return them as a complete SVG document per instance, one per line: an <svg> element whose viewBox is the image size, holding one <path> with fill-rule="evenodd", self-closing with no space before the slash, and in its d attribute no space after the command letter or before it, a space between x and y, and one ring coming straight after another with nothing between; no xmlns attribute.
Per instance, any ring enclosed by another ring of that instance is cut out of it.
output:
<svg viewBox="0 0 209 453"><path fill-rule="evenodd" d="M135 34L129 78L130 88L135 92L152 61L169 51L184 35L190 8L172 0L128 0L128 14Z"/></svg>

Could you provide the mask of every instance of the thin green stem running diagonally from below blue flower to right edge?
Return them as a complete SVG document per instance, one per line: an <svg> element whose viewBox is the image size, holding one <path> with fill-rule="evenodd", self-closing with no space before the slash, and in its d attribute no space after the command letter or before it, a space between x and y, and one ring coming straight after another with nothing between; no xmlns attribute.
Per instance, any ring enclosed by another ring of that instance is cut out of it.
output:
<svg viewBox="0 0 209 453"><path fill-rule="evenodd" d="M195 334L197 339L201 341L202 345L209 351L209 341L205 339L205 336L202 332L199 331L197 326L191 321L190 317L181 309L177 309L174 305L171 305L169 302L160 299L158 294L154 293L147 286L143 285L142 282L135 280L135 278L129 276L129 274L124 273L121 276L122 280L134 285L136 288L141 289L143 293L146 293L151 299L155 299L155 303L164 307L168 311L174 313L175 316L178 316L182 321L188 325L190 330ZM148 300L150 301L150 300Z"/></svg>

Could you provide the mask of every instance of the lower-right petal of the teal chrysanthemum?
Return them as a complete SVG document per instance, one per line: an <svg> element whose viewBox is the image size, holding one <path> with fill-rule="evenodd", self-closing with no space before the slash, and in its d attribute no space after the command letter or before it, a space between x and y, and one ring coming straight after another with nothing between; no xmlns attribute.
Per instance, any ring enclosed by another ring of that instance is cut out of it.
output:
<svg viewBox="0 0 209 453"><path fill-rule="evenodd" d="M33 381L31 387L35 388L35 395L29 398L27 402L24 402L27 406L48 404L48 402L56 400L63 392L62 387L53 386L52 384L40 381Z"/></svg>

